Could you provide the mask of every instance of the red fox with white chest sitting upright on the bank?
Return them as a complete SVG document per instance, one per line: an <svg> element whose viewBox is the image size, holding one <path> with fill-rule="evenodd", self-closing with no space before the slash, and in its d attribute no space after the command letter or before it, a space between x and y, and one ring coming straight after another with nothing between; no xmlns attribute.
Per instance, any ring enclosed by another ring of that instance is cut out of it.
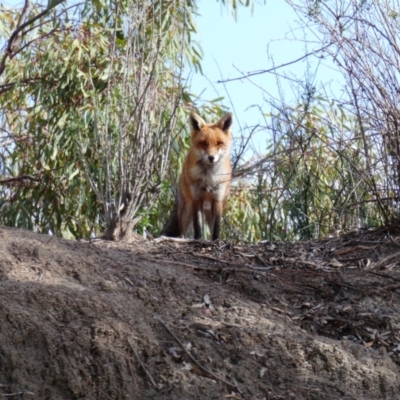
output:
<svg viewBox="0 0 400 400"><path fill-rule="evenodd" d="M189 121L191 146L179 178L174 210L162 235L186 236L193 226L194 238L201 239L204 216L212 240L217 240L232 178L232 114L226 113L215 124L207 124L192 112Z"/></svg>

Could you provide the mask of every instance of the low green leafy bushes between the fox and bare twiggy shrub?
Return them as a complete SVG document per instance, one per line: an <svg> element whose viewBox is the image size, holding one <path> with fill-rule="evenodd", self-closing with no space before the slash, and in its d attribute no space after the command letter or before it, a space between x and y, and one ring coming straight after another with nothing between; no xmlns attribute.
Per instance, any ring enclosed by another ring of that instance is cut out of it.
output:
<svg viewBox="0 0 400 400"><path fill-rule="evenodd" d="M354 117L334 102L309 99L276 110L270 121L267 154L236 172L247 178L233 185L231 237L304 240L382 222Z"/></svg>

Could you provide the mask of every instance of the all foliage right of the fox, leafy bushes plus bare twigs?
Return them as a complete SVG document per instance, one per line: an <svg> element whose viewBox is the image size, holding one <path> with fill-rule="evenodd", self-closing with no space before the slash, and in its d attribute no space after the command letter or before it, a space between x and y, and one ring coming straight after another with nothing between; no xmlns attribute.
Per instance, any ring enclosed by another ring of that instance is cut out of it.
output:
<svg viewBox="0 0 400 400"><path fill-rule="evenodd" d="M305 93L298 92L303 100L297 107L267 100L273 109L265 115L269 147L236 172L240 182L227 217L230 235L238 240L309 239L397 223L400 4L287 3L297 11L302 28L311 31L305 34L312 37L305 48L315 50L302 59L331 59L345 78L344 95L328 102L298 80Z"/></svg>

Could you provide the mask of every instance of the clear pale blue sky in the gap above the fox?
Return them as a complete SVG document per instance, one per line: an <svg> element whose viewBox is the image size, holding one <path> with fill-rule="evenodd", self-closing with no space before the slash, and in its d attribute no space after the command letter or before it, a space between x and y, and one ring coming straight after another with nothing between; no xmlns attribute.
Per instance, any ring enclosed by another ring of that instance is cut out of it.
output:
<svg viewBox="0 0 400 400"><path fill-rule="evenodd" d="M284 0L255 4L253 13L250 8L240 7L236 21L220 2L199 0L199 14L196 18L199 30L196 40L204 52L204 76L192 75L192 92L202 93L204 99L224 96L225 104L235 113L237 130L257 124L261 121L260 112L252 106L261 105L264 112L270 111L265 98L279 97L276 76L262 74L253 77L251 82L242 80L225 85L217 81L238 77L241 75L239 71L265 70L293 61L318 48L318 45L305 47L303 39L309 38L310 34L301 28L298 16ZM323 84L339 95L343 81L334 65L329 61L321 63L316 58L310 58L309 62L317 88ZM279 70L298 78L303 78L306 71L306 61ZM281 79L281 84L285 101L294 105L295 96L289 82Z"/></svg>

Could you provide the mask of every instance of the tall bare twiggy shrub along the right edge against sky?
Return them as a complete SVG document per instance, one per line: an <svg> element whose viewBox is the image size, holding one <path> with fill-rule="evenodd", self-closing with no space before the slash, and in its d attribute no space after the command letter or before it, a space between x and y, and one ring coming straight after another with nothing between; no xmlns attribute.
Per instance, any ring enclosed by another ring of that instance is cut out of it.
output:
<svg viewBox="0 0 400 400"><path fill-rule="evenodd" d="M399 219L398 0L287 0L343 74L370 190L385 224ZM309 23L310 20L312 23ZM314 43L315 43L314 40Z"/></svg>

